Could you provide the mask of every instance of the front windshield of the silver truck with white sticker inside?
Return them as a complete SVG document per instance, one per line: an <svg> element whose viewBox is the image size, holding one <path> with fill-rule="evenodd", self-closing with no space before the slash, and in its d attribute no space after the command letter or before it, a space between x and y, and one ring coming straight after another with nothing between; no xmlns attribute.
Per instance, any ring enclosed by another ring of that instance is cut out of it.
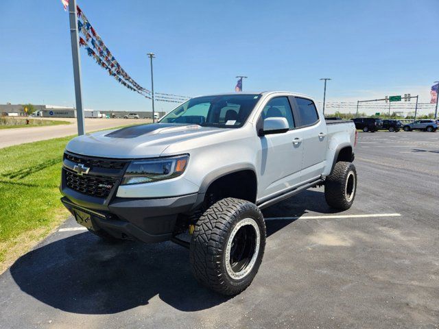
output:
<svg viewBox="0 0 439 329"><path fill-rule="evenodd" d="M166 114L160 122L223 128L242 127L260 98L259 94L195 97Z"/></svg>

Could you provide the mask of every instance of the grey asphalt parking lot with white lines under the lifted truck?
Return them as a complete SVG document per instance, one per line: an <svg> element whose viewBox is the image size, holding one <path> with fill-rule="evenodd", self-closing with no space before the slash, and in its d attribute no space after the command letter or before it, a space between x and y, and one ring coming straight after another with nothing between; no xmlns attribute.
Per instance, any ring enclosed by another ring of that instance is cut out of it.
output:
<svg viewBox="0 0 439 329"><path fill-rule="evenodd" d="M252 285L215 295L173 243L108 245L69 219L0 276L0 328L438 328L439 132L359 133L353 208L322 188L264 210Z"/></svg>

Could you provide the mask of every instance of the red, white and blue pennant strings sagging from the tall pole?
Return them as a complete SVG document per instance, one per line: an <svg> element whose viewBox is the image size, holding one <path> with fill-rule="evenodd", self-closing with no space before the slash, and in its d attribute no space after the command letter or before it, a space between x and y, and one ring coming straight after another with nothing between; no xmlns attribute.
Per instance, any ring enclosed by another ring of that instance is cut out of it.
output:
<svg viewBox="0 0 439 329"><path fill-rule="evenodd" d="M69 5L69 0L61 0L62 5L64 5L64 10L67 10ZM115 78L119 84L125 86L126 88L139 93L143 97L152 99L152 93L150 90L143 88L138 84L125 70L122 69L119 62L117 62L115 56L112 55L110 49L105 45L102 38L97 34L95 28L91 25L90 21L86 18L84 12L77 5L76 11L78 13L78 34L80 34L79 45L84 47L87 55L90 56ZM157 101L167 101L172 103L181 103L186 101L190 97L179 96L173 94L156 93L157 97L154 97Z"/></svg>

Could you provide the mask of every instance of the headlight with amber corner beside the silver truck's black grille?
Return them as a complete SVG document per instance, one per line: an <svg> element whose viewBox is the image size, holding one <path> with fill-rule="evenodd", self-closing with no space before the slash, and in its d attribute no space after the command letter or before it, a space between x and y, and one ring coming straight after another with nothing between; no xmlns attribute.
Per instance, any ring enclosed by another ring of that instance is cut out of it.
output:
<svg viewBox="0 0 439 329"><path fill-rule="evenodd" d="M176 178L185 172L188 161L188 155L132 161L121 184L141 184Z"/></svg>

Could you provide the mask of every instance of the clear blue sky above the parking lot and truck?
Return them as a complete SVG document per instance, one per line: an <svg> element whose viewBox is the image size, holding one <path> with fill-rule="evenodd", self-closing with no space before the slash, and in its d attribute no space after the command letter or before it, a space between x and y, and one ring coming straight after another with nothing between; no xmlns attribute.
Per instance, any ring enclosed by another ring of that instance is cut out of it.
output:
<svg viewBox="0 0 439 329"><path fill-rule="evenodd" d="M78 0L123 68L158 92L292 90L328 101L419 93L439 80L439 1ZM68 14L60 0L0 1L0 103L73 106ZM150 110L82 49L86 108ZM158 103L158 110L169 110Z"/></svg>

